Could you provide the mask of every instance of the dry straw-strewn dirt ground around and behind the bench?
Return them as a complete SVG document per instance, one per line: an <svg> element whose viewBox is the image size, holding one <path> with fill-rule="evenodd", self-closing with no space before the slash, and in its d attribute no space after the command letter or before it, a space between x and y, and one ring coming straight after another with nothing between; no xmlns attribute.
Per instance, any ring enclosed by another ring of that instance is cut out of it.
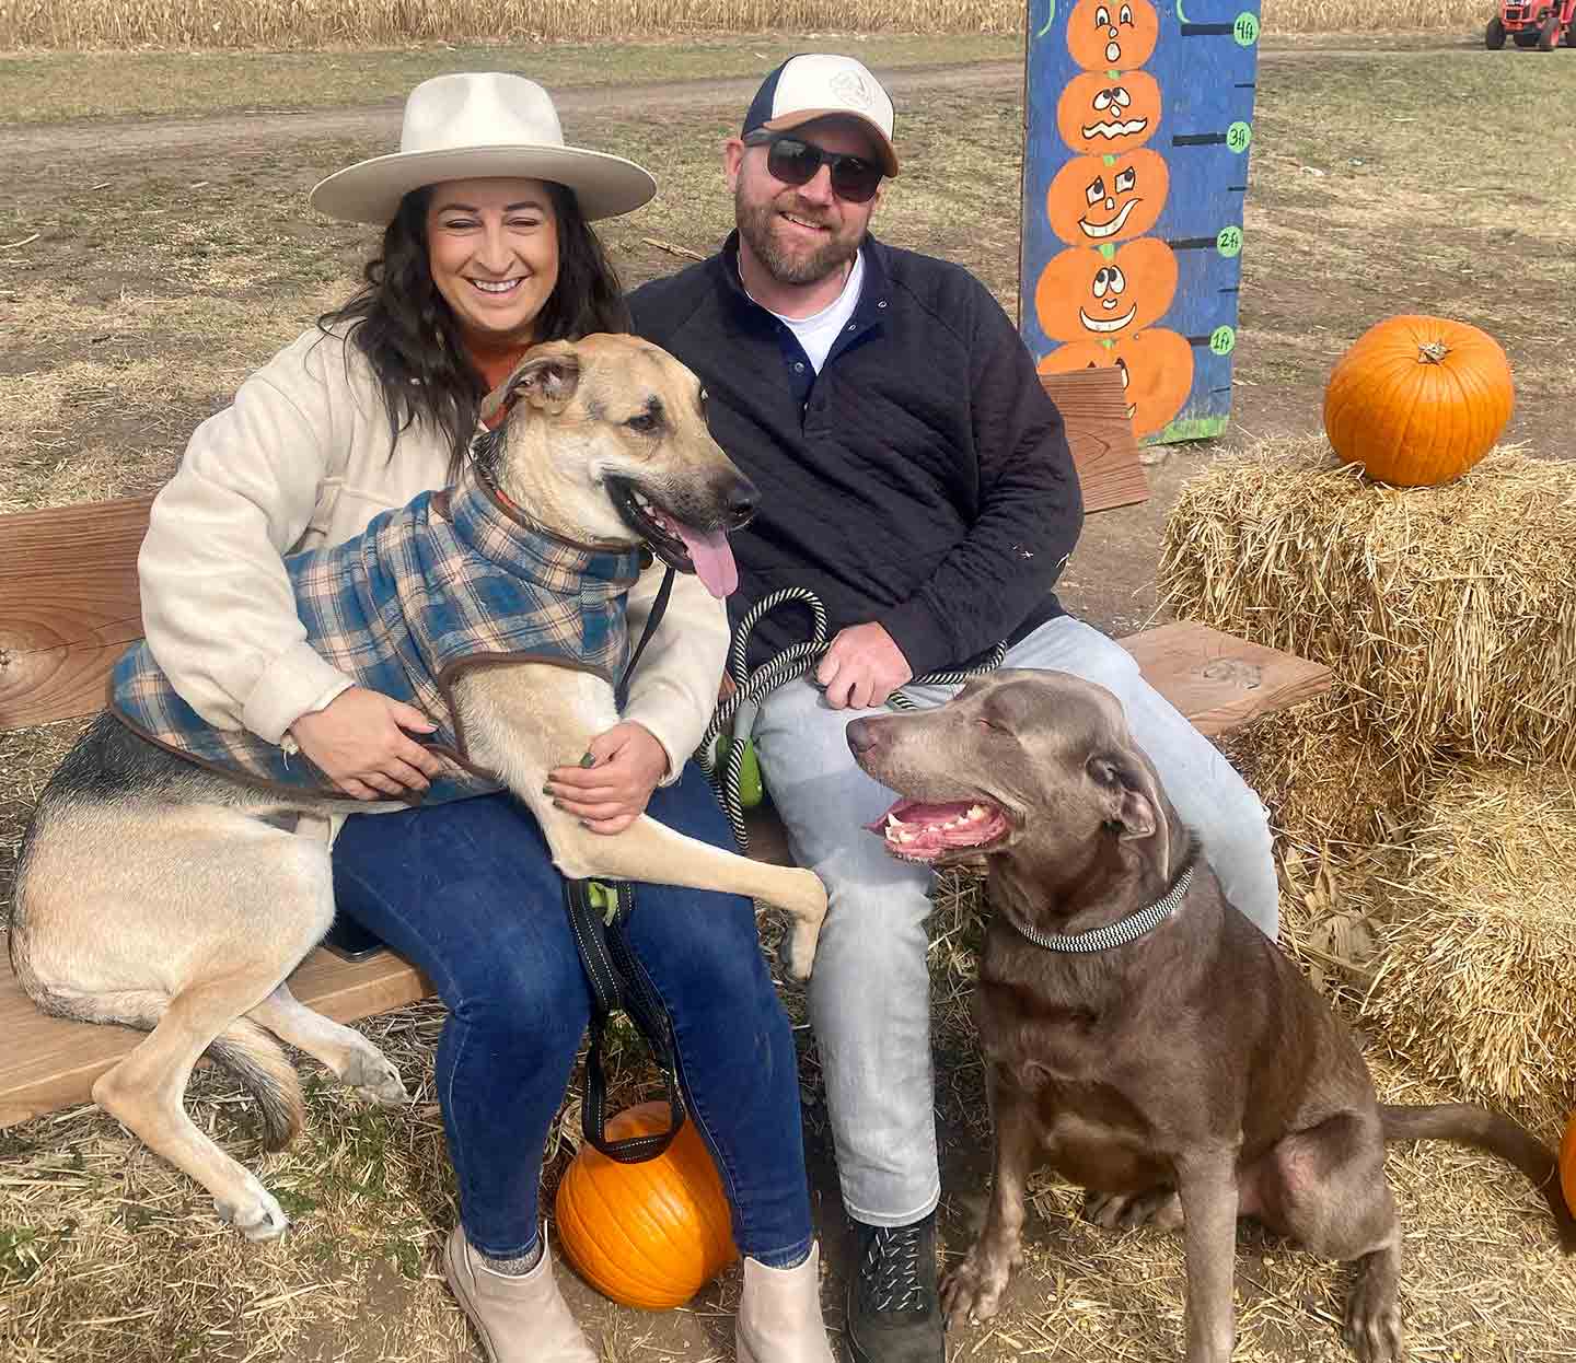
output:
<svg viewBox="0 0 1576 1363"><path fill-rule="evenodd" d="M867 60L884 69L879 55ZM911 159L876 228L960 260L1012 309L1021 61L1010 46L974 58L894 61ZM1150 500L1089 522L1062 581L1070 608L1113 633L1150 622L1158 533L1187 477L1221 449L1316 430L1330 364L1388 314L1442 312L1499 336L1518 380L1505 438L1544 457L1573 452L1576 55L1541 61L1485 54L1467 36L1266 47L1232 429L1214 444L1149 452ZM716 147L755 87L734 71L768 65L720 63L723 74L652 84L637 79L637 54L616 88L561 80L572 136L662 167L662 199L607 232L627 284L720 240L728 205ZM238 98L211 113L139 113L131 96L117 107L115 117L0 123L0 511L159 485L195 421L344 296L366 238L309 217L301 195L326 170L388 150L399 126L397 99L381 93L312 112L247 112ZM1496 154L1472 150L1486 128ZM68 739L69 726L0 736L0 893L27 807ZM944 904L938 931L953 930L968 931L968 914ZM958 1021L961 986L938 977L938 990L950 991L936 1054L950 1259L982 1205L988 1131L979 1060ZM790 1007L797 1013L791 994ZM298 1221L260 1251L232 1243L205 1199L90 1109L0 1133L0 1354L25 1363L479 1358L435 1267L454 1215L430 1094L440 1023L429 1004L367 1024L419 1087L411 1114L394 1122L314 1090L301 1149L241 1155ZM849 1242L813 1046L802 1032L801 1042L837 1325ZM1422 1092L1404 1073L1382 1083ZM254 1149L233 1095L205 1081L195 1106L232 1149ZM572 1130L572 1111L564 1125ZM566 1157L552 1153L550 1183ZM1404 1215L1428 1227L1407 1245L1414 1357L1576 1357L1576 1325L1560 1314L1571 1273L1549 1253L1524 1190L1461 1157L1392 1164ZM990 1327L953 1331L952 1355L1174 1357L1180 1243L1092 1231L1054 1185L1037 1185L1034 1209L1031 1262L1007 1308ZM1344 1273L1247 1231L1242 1250L1239 1357L1343 1357ZM736 1273L659 1316L613 1308L574 1279L567 1291L607 1360L733 1357Z"/></svg>

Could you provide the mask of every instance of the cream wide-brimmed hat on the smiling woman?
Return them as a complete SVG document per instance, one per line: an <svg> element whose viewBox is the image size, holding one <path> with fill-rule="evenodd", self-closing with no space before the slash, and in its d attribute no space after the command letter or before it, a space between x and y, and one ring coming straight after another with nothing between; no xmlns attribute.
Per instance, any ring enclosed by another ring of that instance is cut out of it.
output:
<svg viewBox="0 0 1576 1363"><path fill-rule="evenodd" d="M411 189L504 175L567 186L588 219L630 213L657 192L634 161L564 147L558 110L534 80L482 71L422 80L405 101L399 151L329 175L307 202L329 217L386 225Z"/></svg>

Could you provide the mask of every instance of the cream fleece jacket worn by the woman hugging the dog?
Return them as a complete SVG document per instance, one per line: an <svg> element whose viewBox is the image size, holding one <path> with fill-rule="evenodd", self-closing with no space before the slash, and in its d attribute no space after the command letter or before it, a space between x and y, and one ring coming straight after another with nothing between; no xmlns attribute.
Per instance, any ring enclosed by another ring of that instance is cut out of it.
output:
<svg viewBox="0 0 1576 1363"><path fill-rule="evenodd" d="M389 424L361 351L317 328L252 373L235 402L197 427L153 501L137 558L142 622L154 660L210 723L277 744L292 723L353 681L306 643L282 556L339 544L389 507L446 481L449 449L427 425ZM638 640L662 580L629 592ZM681 574L629 690L679 777L717 703L728 616Z"/></svg>

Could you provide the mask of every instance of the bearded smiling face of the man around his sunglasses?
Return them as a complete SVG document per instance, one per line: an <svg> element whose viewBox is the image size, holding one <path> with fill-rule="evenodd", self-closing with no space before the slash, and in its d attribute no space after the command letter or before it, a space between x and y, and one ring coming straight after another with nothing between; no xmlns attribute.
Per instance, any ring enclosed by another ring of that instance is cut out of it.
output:
<svg viewBox="0 0 1576 1363"><path fill-rule="evenodd" d="M793 136L823 151L879 161L875 139L857 123L821 120L796 128ZM851 203L832 189L827 165L804 184L785 184L768 170L766 153L766 147L745 147L738 139L727 147L745 284L753 293L752 269L786 288L840 284L865 240L881 191L867 203Z"/></svg>

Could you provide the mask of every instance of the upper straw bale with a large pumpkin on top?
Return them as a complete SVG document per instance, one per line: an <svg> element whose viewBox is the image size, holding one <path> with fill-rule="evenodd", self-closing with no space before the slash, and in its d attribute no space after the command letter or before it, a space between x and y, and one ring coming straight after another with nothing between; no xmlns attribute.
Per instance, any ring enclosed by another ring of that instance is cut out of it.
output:
<svg viewBox="0 0 1576 1363"><path fill-rule="evenodd" d="M1179 615L1330 667L1365 741L1576 761L1576 465L1500 449L1390 488L1322 436L1217 460L1166 520Z"/></svg>

